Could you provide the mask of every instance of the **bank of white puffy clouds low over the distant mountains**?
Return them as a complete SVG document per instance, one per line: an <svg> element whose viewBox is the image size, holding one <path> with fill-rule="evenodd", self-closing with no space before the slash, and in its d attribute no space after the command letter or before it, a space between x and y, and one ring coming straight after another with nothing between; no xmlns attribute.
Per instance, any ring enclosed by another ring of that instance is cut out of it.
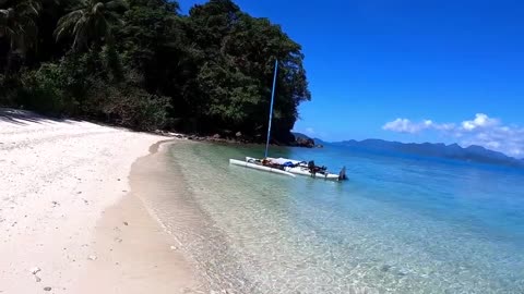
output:
<svg viewBox="0 0 524 294"><path fill-rule="evenodd" d="M398 118L385 123L382 130L412 135L424 131L437 131L454 138L463 146L479 145L516 158L524 157L524 127L504 125L500 119L490 118L485 113L477 113L473 120L461 123L434 123L431 120L413 122Z"/></svg>

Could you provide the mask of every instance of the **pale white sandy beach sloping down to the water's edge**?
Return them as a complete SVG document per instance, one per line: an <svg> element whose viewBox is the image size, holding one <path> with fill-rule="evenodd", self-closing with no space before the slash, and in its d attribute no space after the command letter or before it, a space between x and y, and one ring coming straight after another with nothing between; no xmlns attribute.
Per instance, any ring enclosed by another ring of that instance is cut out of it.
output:
<svg viewBox="0 0 524 294"><path fill-rule="evenodd" d="M165 139L0 109L0 293L190 291L191 266L128 182Z"/></svg>

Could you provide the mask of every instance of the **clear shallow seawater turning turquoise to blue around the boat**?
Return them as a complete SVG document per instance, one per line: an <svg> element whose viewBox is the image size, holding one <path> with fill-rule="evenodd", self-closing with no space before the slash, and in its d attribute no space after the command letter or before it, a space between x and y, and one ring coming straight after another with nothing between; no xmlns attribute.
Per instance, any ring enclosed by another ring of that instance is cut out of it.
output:
<svg viewBox="0 0 524 294"><path fill-rule="evenodd" d="M523 171L329 146L272 155L346 166L349 181L228 164L262 154L194 143L169 150L188 183L172 205L191 207L194 225L183 228L166 205L159 218L213 289L524 293Z"/></svg>

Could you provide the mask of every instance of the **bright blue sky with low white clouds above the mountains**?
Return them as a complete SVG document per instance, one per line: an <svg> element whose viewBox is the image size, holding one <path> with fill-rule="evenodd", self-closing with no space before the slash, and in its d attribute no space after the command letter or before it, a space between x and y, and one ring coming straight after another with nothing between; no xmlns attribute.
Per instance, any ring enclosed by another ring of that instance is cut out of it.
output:
<svg viewBox="0 0 524 294"><path fill-rule="evenodd" d="M235 2L302 45L312 101L296 131L524 157L524 1Z"/></svg>

